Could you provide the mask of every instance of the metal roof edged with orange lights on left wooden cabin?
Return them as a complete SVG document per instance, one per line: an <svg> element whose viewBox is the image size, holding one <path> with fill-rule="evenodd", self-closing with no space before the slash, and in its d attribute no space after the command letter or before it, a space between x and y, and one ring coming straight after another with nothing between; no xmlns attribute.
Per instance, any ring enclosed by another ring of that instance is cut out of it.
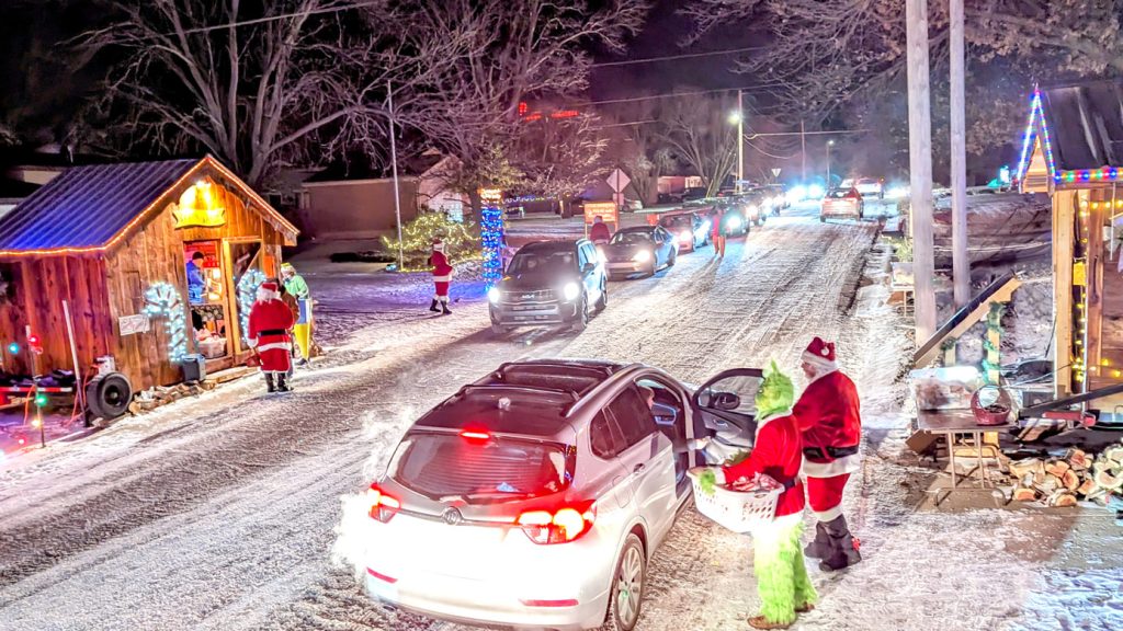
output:
<svg viewBox="0 0 1123 631"><path fill-rule="evenodd" d="M253 189L211 156L75 166L66 170L0 219L0 256L103 252L154 217L181 184L213 174L252 199L289 243L298 230Z"/></svg>

